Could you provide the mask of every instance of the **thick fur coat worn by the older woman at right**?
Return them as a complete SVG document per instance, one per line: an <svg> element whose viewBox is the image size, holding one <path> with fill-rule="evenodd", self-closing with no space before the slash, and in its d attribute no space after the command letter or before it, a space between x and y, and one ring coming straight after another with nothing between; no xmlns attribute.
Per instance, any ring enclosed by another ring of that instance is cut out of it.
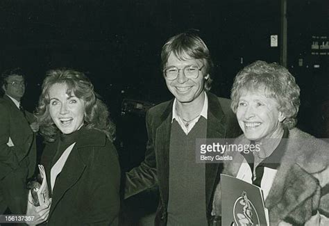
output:
<svg viewBox="0 0 329 226"><path fill-rule="evenodd" d="M235 143L245 143L242 135ZM289 130L278 172L265 206L270 225L329 225L329 144L299 129ZM237 176L244 157L233 154L223 174ZM221 188L214 195L213 215L221 215Z"/></svg>

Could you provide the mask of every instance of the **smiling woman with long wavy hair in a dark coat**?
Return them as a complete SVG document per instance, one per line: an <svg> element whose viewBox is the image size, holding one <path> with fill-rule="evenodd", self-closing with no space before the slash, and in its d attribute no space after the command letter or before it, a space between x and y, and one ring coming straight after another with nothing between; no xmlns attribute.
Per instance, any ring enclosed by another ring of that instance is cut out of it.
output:
<svg viewBox="0 0 329 226"><path fill-rule="evenodd" d="M51 70L35 113L47 140L42 164L51 204L28 203L33 224L117 225L120 168L114 125L85 74Z"/></svg>

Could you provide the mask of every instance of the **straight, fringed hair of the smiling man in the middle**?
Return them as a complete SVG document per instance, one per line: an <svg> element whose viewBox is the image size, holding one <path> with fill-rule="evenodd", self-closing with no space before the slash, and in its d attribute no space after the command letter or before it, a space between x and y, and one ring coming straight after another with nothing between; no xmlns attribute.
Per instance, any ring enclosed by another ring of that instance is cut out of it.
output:
<svg viewBox="0 0 329 226"><path fill-rule="evenodd" d="M162 70L165 68L171 53L179 60L203 60L205 63L205 74L209 74L209 78L205 80L205 90L210 90L212 83L210 74L213 64L209 49L199 35L196 35L192 31L187 31L169 38L161 51Z"/></svg>

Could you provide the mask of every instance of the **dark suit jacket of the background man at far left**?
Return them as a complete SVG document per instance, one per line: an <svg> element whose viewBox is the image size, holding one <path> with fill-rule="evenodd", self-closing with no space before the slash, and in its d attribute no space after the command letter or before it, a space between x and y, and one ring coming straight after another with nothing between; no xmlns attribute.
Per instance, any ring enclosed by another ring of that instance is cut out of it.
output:
<svg viewBox="0 0 329 226"><path fill-rule="evenodd" d="M28 177L35 170L36 145L35 134L29 123L35 121L33 115L19 111L12 100L4 95L0 99L0 180L9 172L16 170L19 164L28 163ZM11 138L13 147L7 145Z"/></svg>

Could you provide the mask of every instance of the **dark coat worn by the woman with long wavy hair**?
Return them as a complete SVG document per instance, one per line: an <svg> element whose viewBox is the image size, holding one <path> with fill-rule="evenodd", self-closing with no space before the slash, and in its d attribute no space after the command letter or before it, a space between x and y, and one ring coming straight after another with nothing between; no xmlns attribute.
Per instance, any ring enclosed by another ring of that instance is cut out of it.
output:
<svg viewBox="0 0 329 226"><path fill-rule="evenodd" d="M117 225L117 151L101 131L82 129L53 187L47 225ZM57 145L56 141L47 144L42 154L49 191L51 160Z"/></svg>

